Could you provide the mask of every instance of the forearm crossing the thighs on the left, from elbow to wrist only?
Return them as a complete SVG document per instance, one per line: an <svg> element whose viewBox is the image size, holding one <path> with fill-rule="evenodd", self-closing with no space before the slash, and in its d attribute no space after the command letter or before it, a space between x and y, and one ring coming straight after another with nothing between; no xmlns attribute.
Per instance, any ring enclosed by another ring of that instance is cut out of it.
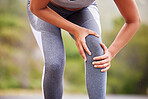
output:
<svg viewBox="0 0 148 99"><path fill-rule="evenodd" d="M55 25L59 28L62 28L64 30L70 32L71 34L74 33L76 28L80 28L80 26L64 19L62 16L60 16L58 13L56 13L54 10L52 10L49 7L39 9L39 10L32 9L31 11L40 19L42 19L52 25Z"/></svg>

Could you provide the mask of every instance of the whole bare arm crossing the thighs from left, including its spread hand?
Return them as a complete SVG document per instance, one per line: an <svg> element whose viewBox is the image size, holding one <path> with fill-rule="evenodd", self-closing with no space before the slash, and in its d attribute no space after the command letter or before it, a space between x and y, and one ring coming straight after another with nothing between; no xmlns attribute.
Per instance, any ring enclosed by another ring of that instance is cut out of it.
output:
<svg viewBox="0 0 148 99"><path fill-rule="evenodd" d="M54 10L47 7L47 4L49 3L49 1L50 0L31 0L31 3L30 3L31 12L35 14L37 17L39 17L40 19L73 34L75 37L75 41L76 41L76 45L78 47L79 53L81 54L83 59L86 61L86 55L85 55L84 49L89 55L91 54L91 52L89 51L86 45L85 37L89 34L95 35L96 37L99 37L99 35L92 30L80 27L66 20L62 16L60 16Z"/></svg>

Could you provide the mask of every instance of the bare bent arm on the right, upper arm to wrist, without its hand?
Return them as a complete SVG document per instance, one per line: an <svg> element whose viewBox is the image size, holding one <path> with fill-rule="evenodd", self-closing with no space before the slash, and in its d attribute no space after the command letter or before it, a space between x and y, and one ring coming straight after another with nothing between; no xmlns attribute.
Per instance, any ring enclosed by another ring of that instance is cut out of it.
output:
<svg viewBox="0 0 148 99"><path fill-rule="evenodd" d="M125 19L125 24L109 47L114 57L134 36L140 26L140 15L134 0L114 0Z"/></svg>

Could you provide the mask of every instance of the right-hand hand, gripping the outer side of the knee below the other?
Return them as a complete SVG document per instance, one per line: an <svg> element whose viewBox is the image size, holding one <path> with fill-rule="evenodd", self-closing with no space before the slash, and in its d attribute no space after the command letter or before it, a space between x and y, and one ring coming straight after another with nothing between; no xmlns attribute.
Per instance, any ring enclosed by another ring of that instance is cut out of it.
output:
<svg viewBox="0 0 148 99"><path fill-rule="evenodd" d="M101 70L101 72L105 72L111 67L110 62L111 62L112 56L111 56L111 53L108 51L107 47L105 46L105 44L100 43L100 45L104 50L104 55L94 57L93 60L95 61L92 62L92 64L94 65L95 68L104 68Z"/></svg>

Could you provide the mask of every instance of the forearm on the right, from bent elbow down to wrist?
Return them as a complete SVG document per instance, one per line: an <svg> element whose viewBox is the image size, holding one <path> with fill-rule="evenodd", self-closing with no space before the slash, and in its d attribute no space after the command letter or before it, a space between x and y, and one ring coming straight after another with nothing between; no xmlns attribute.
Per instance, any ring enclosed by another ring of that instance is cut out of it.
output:
<svg viewBox="0 0 148 99"><path fill-rule="evenodd" d="M131 40L140 26L140 22L125 23L113 43L108 48L112 58Z"/></svg>

